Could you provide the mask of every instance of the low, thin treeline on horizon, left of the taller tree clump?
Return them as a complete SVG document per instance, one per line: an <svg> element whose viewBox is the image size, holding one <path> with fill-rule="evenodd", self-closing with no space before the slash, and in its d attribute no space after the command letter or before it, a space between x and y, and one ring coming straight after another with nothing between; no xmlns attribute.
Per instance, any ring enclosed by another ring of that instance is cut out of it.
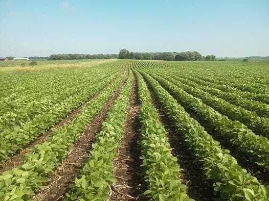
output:
<svg viewBox="0 0 269 201"><path fill-rule="evenodd" d="M97 55L85 55L85 54L59 54L51 55L48 60L70 60L70 59L116 59L117 54L97 54Z"/></svg>

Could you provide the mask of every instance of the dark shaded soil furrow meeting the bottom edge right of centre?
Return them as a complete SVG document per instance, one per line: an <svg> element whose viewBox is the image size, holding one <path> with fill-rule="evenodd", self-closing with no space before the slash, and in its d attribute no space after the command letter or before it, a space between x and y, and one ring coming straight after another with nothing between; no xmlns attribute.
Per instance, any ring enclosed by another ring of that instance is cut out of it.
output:
<svg viewBox="0 0 269 201"><path fill-rule="evenodd" d="M169 117L158 102L158 99L151 88L150 93L153 99L153 104L158 110L160 120L167 132L167 137L172 147L172 154L177 158L178 164L180 164L180 179L182 179L183 183L187 186L188 195L197 201L216 200L217 196L214 194L212 184L207 182L201 167L198 166L198 164L193 163L194 158L192 157L191 150L189 150L188 146L184 143L185 140L183 134L174 130Z"/></svg>

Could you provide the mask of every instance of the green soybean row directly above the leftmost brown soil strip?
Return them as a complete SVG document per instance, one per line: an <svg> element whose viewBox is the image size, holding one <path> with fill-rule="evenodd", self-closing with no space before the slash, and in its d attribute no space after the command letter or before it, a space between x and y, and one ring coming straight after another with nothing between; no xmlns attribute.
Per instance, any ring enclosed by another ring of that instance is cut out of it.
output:
<svg viewBox="0 0 269 201"><path fill-rule="evenodd" d="M102 74L100 76L102 77ZM76 109L88 97L93 96L98 90L114 79L115 76L108 76L97 84L85 86L80 93L67 97L64 102L54 105L47 112L36 115L34 119L14 125L9 129L4 129L0 133L0 164L51 128L66 114ZM93 79L93 81L97 80Z"/></svg>

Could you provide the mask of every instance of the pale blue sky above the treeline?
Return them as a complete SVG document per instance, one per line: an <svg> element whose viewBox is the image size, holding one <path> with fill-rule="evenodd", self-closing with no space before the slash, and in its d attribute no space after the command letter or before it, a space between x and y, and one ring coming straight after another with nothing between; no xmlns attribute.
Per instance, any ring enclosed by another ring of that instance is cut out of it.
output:
<svg viewBox="0 0 269 201"><path fill-rule="evenodd" d="M0 57L121 48L269 56L269 1L0 0Z"/></svg>

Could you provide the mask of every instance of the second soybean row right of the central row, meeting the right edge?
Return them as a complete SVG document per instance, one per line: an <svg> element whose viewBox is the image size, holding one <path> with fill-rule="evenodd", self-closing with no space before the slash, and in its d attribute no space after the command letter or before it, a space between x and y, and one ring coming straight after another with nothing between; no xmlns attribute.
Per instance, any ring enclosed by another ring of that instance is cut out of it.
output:
<svg viewBox="0 0 269 201"><path fill-rule="evenodd" d="M233 121L220 114L213 108L187 93L178 85L150 73L188 111L195 114L210 133L227 148L233 148L241 157L246 157L252 164L269 168L269 141L263 136L256 135L239 121ZM176 83L176 82L175 82Z"/></svg>

